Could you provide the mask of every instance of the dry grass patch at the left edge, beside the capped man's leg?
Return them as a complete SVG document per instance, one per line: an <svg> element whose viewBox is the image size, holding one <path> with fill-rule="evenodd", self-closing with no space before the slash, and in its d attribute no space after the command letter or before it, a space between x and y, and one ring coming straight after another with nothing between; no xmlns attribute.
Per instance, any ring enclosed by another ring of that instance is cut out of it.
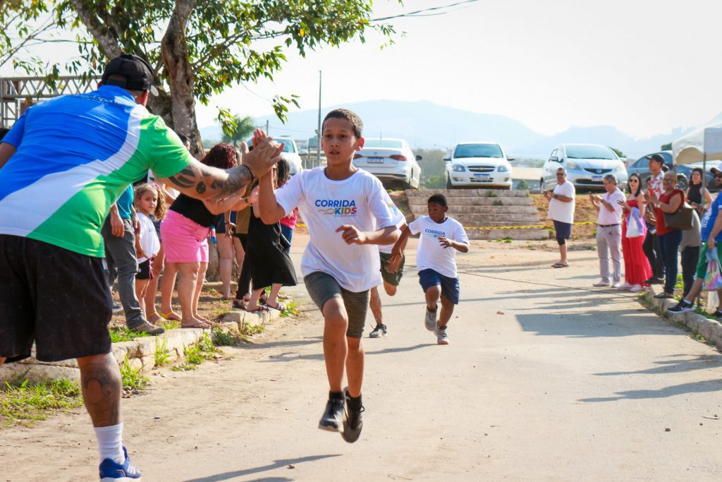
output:
<svg viewBox="0 0 722 482"><path fill-rule="evenodd" d="M0 426L30 426L45 420L53 412L83 406L78 384L68 379L30 384L27 379L18 385L5 384L0 391Z"/></svg>

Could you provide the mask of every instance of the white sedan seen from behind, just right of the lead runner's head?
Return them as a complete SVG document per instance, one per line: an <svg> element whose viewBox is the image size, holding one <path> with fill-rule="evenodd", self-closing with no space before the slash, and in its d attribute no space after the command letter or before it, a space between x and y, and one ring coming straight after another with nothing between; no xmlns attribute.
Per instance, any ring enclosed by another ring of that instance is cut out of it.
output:
<svg viewBox="0 0 722 482"><path fill-rule="evenodd" d="M354 165L378 177L386 187L419 189L420 155L414 155L404 139L366 137L363 149L354 155Z"/></svg>

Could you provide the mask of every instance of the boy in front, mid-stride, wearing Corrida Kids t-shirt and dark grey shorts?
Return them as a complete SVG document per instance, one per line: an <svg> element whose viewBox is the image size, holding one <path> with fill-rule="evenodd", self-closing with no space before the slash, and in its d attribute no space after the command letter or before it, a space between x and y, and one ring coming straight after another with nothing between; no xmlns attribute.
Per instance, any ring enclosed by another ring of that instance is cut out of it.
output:
<svg viewBox="0 0 722 482"><path fill-rule="evenodd" d="M321 130L326 167L293 176L275 193L271 176L264 176L258 193L264 223L276 223L297 206L308 225L301 272L325 321L323 355L330 388L318 428L339 431L347 442L356 442L361 434L361 337L368 292L381 283L375 269L378 248L372 245L396 241L396 225L403 220L378 178L352 165L363 144L361 119L347 109L331 111Z"/></svg>

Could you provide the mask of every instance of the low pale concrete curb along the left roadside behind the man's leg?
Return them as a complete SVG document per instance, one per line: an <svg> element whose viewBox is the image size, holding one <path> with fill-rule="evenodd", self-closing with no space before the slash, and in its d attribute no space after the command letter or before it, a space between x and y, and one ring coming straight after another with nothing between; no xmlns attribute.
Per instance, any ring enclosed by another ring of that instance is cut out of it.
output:
<svg viewBox="0 0 722 482"><path fill-rule="evenodd" d="M243 324L264 325L279 317L279 311L258 311L248 313L234 309L223 316L221 322L214 324L225 332L241 332ZM128 357L132 367L141 371L150 371L155 368L155 352L158 348L168 350L170 361L183 357L183 348L196 343L204 333L211 330L201 328L178 328L168 330L162 335L155 337L142 337L133 341L113 343L113 355L118 363L123 363ZM33 348L33 353L35 349ZM35 356L25 358L17 363L6 363L0 366L0 384L9 380L28 379L31 383L47 382L56 379L70 379L74 382L80 381L80 370L77 361L74 359L48 362L38 361Z"/></svg>

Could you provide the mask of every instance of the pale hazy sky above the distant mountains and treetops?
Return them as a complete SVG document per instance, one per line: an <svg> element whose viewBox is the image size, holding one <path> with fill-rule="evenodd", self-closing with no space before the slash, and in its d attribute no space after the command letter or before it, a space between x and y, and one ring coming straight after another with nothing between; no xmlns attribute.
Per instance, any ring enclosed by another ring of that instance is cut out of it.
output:
<svg viewBox="0 0 722 482"><path fill-rule="evenodd" d="M456 0L376 0L375 14ZM703 0L481 0L448 13L392 20L383 38L290 53L274 82L232 87L199 106L271 113L276 94L302 110L360 100L430 100L512 117L543 134L607 124L635 137L695 126L722 112L722 2Z"/></svg>

